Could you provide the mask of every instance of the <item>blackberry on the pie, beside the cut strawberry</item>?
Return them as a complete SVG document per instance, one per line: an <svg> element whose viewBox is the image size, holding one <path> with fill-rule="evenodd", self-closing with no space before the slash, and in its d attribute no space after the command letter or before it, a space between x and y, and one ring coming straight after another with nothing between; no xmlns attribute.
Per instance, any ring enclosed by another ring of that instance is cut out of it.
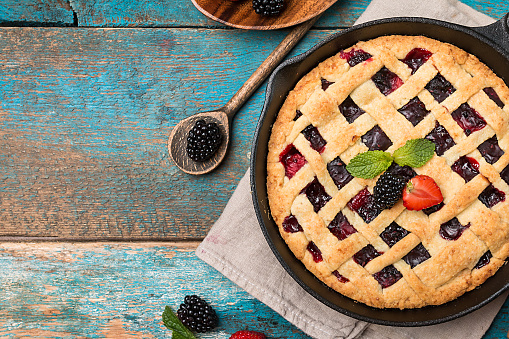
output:
<svg viewBox="0 0 509 339"><path fill-rule="evenodd" d="M404 177L391 172L382 174L373 188L375 206L379 209L392 208L401 199L406 182Z"/></svg>

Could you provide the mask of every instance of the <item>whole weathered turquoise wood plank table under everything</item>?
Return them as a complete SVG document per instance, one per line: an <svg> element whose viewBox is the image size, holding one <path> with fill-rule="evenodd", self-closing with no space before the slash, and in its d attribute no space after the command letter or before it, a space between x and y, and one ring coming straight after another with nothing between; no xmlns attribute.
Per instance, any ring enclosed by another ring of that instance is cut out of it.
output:
<svg viewBox="0 0 509 339"><path fill-rule="evenodd" d="M340 0L292 55L368 3ZM226 103L288 30L231 29L188 0L4 0L0 26L0 337L168 338L164 306L196 293L221 319L202 338L307 338L194 254L248 168L264 86L216 171L184 174L166 151L172 126ZM486 339L507 337L508 313Z"/></svg>

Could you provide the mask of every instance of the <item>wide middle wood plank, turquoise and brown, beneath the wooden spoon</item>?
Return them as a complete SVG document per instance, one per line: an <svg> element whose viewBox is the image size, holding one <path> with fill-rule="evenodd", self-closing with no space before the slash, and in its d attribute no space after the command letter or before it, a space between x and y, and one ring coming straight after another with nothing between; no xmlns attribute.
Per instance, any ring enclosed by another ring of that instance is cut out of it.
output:
<svg viewBox="0 0 509 339"><path fill-rule="evenodd" d="M264 91L209 175L170 163L170 128L226 103L286 32L2 29L0 236L203 237L248 168Z"/></svg>

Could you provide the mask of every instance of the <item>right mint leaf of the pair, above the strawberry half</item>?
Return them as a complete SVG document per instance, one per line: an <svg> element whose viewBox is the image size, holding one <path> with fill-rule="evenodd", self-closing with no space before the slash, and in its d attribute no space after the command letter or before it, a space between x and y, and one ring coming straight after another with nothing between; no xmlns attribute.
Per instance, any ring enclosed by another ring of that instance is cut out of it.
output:
<svg viewBox="0 0 509 339"><path fill-rule="evenodd" d="M393 156L400 166L421 167L433 157L435 144L427 139L408 140Z"/></svg>

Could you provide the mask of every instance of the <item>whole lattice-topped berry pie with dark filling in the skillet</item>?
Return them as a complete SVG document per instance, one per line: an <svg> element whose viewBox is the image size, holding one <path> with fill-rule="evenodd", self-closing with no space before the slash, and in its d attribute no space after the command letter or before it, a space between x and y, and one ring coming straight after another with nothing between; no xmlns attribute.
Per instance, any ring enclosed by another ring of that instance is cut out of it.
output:
<svg viewBox="0 0 509 339"><path fill-rule="evenodd" d="M268 154L270 209L309 271L379 308L453 300L509 254L509 89L475 56L436 40L380 37L339 52L288 94ZM345 166L410 139L435 143L424 166L443 202L420 211L373 203L377 178Z"/></svg>

